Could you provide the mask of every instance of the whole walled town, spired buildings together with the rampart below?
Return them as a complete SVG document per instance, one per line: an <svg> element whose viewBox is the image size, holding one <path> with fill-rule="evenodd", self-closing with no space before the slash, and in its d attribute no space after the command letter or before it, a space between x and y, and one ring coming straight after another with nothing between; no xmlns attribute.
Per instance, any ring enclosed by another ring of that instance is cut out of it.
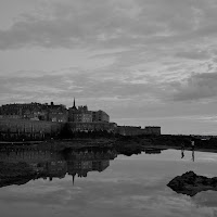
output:
<svg viewBox="0 0 217 217"><path fill-rule="evenodd" d="M43 120L43 122L36 122ZM117 126L110 123L110 116L102 110L89 111L87 105L73 107L44 103L14 103L0 106L0 137L3 139L21 138L33 139L54 137L62 131L107 131L123 136L161 135L161 127L148 126Z"/></svg>

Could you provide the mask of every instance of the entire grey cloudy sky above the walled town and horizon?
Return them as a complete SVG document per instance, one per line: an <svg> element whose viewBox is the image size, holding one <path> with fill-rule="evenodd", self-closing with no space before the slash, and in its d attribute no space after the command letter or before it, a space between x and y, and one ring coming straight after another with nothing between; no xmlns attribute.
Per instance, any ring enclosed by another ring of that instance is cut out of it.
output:
<svg viewBox="0 0 217 217"><path fill-rule="evenodd" d="M0 104L87 104L217 135L216 0L0 0Z"/></svg>

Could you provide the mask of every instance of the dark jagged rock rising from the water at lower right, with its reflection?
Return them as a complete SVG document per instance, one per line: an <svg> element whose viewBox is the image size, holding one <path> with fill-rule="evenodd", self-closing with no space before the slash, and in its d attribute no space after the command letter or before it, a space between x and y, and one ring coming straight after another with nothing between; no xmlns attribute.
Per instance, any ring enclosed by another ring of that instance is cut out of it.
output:
<svg viewBox="0 0 217 217"><path fill-rule="evenodd" d="M177 193L194 196L201 191L217 191L217 177L207 178L187 171L182 176L175 177L167 186Z"/></svg>

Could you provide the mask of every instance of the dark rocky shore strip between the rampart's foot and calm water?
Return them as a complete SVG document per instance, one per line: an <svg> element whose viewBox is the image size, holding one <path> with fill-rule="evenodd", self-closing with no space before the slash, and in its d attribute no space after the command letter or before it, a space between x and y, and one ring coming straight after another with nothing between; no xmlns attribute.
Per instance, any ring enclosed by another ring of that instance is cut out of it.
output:
<svg viewBox="0 0 217 217"><path fill-rule="evenodd" d="M217 153L217 139L196 140L193 137L183 136L143 136L143 137L97 137L97 138L72 138L72 139L49 139L46 141L0 141L0 150L10 148L41 149L63 151L65 149L79 148L112 148L118 153L131 155L139 154L146 149L173 149L191 151L191 141L195 141L194 151Z"/></svg>

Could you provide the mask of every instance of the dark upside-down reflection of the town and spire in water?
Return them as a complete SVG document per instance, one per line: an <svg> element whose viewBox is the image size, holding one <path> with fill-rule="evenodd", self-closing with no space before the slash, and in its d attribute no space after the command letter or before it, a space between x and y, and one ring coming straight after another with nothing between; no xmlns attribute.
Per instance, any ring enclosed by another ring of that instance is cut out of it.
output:
<svg viewBox="0 0 217 217"><path fill-rule="evenodd" d="M105 170L110 166L110 161L116 156L116 151L111 149L67 149L63 152L4 150L0 152L0 164L2 168L9 167L9 170L1 169L0 187L22 184L39 178L52 180L64 178L66 175L72 175L74 182L76 176L87 177L89 171ZM10 174L11 167L17 169L14 173L12 169ZM26 181L21 180L22 177L25 177Z"/></svg>

